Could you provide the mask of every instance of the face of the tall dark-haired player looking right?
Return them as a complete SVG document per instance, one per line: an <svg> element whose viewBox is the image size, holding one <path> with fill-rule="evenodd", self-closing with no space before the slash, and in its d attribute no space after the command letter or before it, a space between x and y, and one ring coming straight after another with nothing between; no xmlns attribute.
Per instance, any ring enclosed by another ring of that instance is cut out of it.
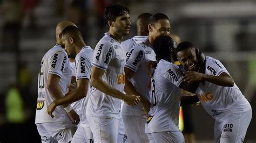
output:
<svg viewBox="0 0 256 143"><path fill-rule="evenodd" d="M130 25L130 15L128 13L124 13L124 15L116 18L113 28L117 33L119 33L119 35L123 36L129 34Z"/></svg>

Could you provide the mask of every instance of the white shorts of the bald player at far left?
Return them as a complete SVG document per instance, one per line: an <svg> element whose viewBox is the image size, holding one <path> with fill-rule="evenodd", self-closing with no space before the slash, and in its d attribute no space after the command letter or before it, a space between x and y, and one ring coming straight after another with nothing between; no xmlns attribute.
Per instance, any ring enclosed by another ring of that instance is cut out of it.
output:
<svg viewBox="0 0 256 143"><path fill-rule="evenodd" d="M64 127L61 123L36 124L42 142L69 142L76 131L76 126Z"/></svg>

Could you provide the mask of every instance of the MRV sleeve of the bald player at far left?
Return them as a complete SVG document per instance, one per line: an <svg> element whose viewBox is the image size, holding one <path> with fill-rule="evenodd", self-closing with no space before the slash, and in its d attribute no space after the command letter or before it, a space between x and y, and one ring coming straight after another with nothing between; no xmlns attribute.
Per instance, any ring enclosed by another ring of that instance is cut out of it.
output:
<svg viewBox="0 0 256 143"><path fill-rule="evenodd" d="M49 74L56 74L59 77L62 77L63 70L67 64L68 56L66 53L60 51L53 54L49 61L48 73Z"/></svg>

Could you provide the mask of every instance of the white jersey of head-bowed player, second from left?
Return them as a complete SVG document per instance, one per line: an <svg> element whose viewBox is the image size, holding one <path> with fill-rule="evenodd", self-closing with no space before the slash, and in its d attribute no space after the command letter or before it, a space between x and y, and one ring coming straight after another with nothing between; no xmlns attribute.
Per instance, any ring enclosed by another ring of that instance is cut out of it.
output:
<svg viewBox="0 0 256 143"><path fill-rule="evenodd" d="M90 46L85 46L81 51L76 55L76 79L87 78L90 80L91 68L92 68L92 56L93 49ZM86 106L90 96L91 88L90 84L88 85L88 91L86 97L81 99L80 108L82 112L82 117L80 117L80 125L84 125L87 122L86 119ZM86 127L86 126L84 126Z"/></svg>

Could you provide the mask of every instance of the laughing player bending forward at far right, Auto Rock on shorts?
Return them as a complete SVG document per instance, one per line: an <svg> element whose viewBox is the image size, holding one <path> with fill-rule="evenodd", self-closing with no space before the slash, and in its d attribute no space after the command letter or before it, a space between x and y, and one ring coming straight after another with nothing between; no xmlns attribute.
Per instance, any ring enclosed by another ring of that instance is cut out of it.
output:
<svg viewBox="0 0 256 143"><path fill-rule="evenodd" d="M252 119L252 108L223 64L206 56L203 72L197 72L198 59L191 42L181 42L177 57L188 69L184 81L203 81L196 94L204 109L215 119L216 142L243 142Z"/></svg>

